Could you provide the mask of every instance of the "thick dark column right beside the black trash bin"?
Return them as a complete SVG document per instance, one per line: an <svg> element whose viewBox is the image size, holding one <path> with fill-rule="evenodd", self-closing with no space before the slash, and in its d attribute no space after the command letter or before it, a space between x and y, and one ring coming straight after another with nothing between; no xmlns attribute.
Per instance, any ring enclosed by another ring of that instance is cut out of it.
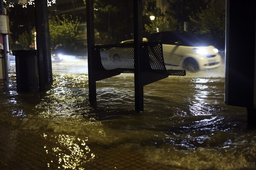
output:
<svg viewBox="0 0 256 170"><path fill-rule="evenodd" d="M39 58L40 91L52 85L52 60L49 38L49 20L46 0L35 0L37 53Z"/></svg>

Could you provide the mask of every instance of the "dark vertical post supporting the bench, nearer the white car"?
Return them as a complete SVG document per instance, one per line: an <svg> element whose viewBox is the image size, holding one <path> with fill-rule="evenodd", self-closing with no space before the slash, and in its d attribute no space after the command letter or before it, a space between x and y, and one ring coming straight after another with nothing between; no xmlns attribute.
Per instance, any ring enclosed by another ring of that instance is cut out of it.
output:
<svg viewBox="0 0 256 170"><path fill-rule="evenodd" d="M135 110L143 111L143 77L142 57L140 47L142 45L142 0L134 0L134 93Z"/></svg>

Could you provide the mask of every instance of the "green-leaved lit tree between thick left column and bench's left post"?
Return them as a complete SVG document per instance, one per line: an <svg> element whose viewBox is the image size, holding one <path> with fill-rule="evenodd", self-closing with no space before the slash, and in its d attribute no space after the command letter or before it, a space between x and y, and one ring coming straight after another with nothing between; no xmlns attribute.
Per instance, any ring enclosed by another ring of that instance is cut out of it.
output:
<svg viewBox="0 0 256 170"><path fill-rule="evenodd" d="M49 20L52 48L55 48L56 45L63 45L68 48L75 45L74 42L79 37L79 23L80 21L77 17L73 20L72 16L65 17L65 15L62 15L62 18L56 16Z"/></svg>

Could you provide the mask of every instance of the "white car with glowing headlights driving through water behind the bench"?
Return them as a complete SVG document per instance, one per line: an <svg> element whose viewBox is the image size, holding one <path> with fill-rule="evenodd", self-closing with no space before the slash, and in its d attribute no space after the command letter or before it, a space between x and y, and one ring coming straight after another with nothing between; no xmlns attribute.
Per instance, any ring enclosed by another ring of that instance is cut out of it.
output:
<svg viewBox="0 0 256 170"><path fill-rule="evenodd" d="M151 34L149 41L162 41L165 64L188 71L216 68L221 64L218 49L189 32L163 31Z"/></svg>

